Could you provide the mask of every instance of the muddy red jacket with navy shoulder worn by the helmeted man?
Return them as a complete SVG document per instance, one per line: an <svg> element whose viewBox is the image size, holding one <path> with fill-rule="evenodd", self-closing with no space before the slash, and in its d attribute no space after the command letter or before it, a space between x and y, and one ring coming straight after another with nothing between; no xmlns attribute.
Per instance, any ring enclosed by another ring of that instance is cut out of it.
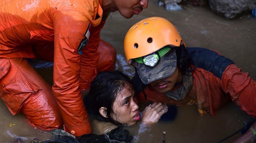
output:
<svg viewBox="0 0 256 143"><path fill-rule="evenodd" d="M182 100L173 100L147 87L146 100L138 88L138 101L161 102L165 104L197 104L200 115L210 112L215 116L230 98L249 115L256 116L256 82L248 73L241 72L233 61L219 55L215 51L204 48L187 48L192 58L193 86ZM138 83L138 82L137 82ZM135 85L135 86L138 86ZM172 90L176 90L174 87Z"/></svg>

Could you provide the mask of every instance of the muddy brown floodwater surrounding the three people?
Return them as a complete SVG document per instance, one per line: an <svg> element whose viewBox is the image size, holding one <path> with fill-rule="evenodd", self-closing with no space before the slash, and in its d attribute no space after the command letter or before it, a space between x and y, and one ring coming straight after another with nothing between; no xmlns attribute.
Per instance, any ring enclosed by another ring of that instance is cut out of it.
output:
<svg viewBox="0 0 256 143"><path fill-rule="evenodd" d="M227 20L205 6L182 6L183 10L167 11L164 7L157 6L156 2L149 0L148 8L131 19L123 18L119 12L112 13L108 18L101 36L117 50L117 69L125 71L129 76L134 73L134 69L127 65L123 51L124 36L128 29L144 18L160 16L176 26L187 47L205 47L219 51L256 80L256 18L247 14ZM52 63L37 62L34 67L52 85ZM140 109L145 106L146 104L140 104ZM0 111L0 143L19 140L30 143L34 138L42 141L52 136L49 131L30 126L24 114L12 116L2 99ZM134 135L133 142L137 143L162 143L163 131L166 132L166 143L216 143L244 127L252 119L232 102L218 110L215 117L210 114L199 116L196 105L186 105L177 106L174 120L162 121L147 128L135 125L129 127L129 130ZM223 143L232 143L240 135L237 133Z"/></svg>

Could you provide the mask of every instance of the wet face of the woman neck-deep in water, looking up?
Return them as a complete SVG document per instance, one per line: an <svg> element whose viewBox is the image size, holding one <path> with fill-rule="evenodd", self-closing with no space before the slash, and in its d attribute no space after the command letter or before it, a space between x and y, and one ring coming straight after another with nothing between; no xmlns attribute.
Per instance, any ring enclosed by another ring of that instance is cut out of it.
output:
<svg viewBox="0 0 256 143"><path fill-rule="evenodd" d="M126 125L134 125L140 119L138 101L132 86L127 85L116 96L113 104L112 119Z"/></svg>

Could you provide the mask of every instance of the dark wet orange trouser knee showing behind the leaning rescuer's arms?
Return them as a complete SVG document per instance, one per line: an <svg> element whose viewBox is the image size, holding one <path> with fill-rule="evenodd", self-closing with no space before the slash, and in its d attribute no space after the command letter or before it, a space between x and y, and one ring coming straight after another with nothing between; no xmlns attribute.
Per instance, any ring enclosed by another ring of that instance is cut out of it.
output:
<svg viewBox="0 0 256 143"><path fill-rule="evenodd" d="M110 43L101 40L98 52L100 58L96 66L97 73L101 71L114 71L116 69L116 49Z"/></svg>

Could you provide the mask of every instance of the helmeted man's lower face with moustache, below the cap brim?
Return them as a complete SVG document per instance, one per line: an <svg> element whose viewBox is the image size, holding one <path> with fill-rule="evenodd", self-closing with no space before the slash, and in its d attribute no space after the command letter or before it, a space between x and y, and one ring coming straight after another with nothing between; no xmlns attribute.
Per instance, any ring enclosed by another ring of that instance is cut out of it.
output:
<svg viewBox="0 0 256 143"><path fill-rule="evenodd" d="M150 85L160 93L169 92L173 88L174 84L181 80L182 77L181 76L178 77L178 74L179 74L179 70L176 67L174 73L171 76L153 81L150 83Z"/></svg>

